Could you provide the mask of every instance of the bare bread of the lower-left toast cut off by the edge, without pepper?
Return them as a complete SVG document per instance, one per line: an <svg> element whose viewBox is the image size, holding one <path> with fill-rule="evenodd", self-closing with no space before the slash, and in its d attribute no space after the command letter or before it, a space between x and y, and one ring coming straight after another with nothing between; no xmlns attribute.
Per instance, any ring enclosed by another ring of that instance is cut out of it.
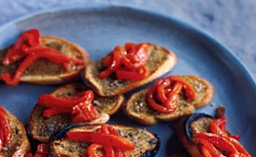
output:
<svg viewBox="0 0 256 157"><path fill-rule="evenodd" d="M31 150L26 130L15 115L6 109L5 111L7 112L12 137L10 144L8 146L4 146L4 150L0 152L0 156L24 156Z"/></svg>

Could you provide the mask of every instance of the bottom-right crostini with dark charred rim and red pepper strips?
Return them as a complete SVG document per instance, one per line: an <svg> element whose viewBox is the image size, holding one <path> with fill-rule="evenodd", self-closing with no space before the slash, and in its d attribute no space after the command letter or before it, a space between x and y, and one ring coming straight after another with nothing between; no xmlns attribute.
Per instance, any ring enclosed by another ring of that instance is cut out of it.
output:
<svg viewBox="0 0 256 157"><path fill-rule="evenodd" d="M251 157L226 128L225 115L210 116L192 113L180 120L176 132L184 148L192 157L239 156Z"/></svg>

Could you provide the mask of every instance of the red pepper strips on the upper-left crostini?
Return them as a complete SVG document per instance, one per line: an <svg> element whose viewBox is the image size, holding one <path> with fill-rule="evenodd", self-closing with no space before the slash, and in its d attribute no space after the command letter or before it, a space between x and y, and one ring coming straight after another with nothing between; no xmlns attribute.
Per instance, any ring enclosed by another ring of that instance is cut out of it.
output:
<svg viewBox="0 0 256 157"><path fill-rule="evenodd" d="M66 72L71 72L71 64L85 64L83 60L69 58L56 49L43 46L38 30L29 30L21 34L21 37L14 46L9 48L7 55L2 60L6 66L21 60L20 66L14 75L8 72L2 73L2 79L7 85L18 85L22 73L37 59L48 59L56 64L63 64Z"/></svg>

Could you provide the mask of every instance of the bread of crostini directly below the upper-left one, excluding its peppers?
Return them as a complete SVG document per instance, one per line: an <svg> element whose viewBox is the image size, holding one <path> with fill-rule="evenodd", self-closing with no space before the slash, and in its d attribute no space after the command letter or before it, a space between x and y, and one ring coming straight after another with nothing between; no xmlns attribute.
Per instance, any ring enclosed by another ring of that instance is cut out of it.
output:
<svg viewBox="0 0 256 157"><path fill-rule="evenodd" d="M88 89L89 87L82 83L67 84L58 87L51 93L51 95L55 97L64 97ZM105 124L109 120L109 116L121 108L123 99L122 95L111 98L94 95L92 103L99 111L99 118L80 124ZM64 126L74 124L72 122L71 114L68 113L56 114L50 118L44 118L42 116L44 109L46 108L36 104L28 123L28 134L37 141L47 142L54 132L60 130Z"/></svg>

